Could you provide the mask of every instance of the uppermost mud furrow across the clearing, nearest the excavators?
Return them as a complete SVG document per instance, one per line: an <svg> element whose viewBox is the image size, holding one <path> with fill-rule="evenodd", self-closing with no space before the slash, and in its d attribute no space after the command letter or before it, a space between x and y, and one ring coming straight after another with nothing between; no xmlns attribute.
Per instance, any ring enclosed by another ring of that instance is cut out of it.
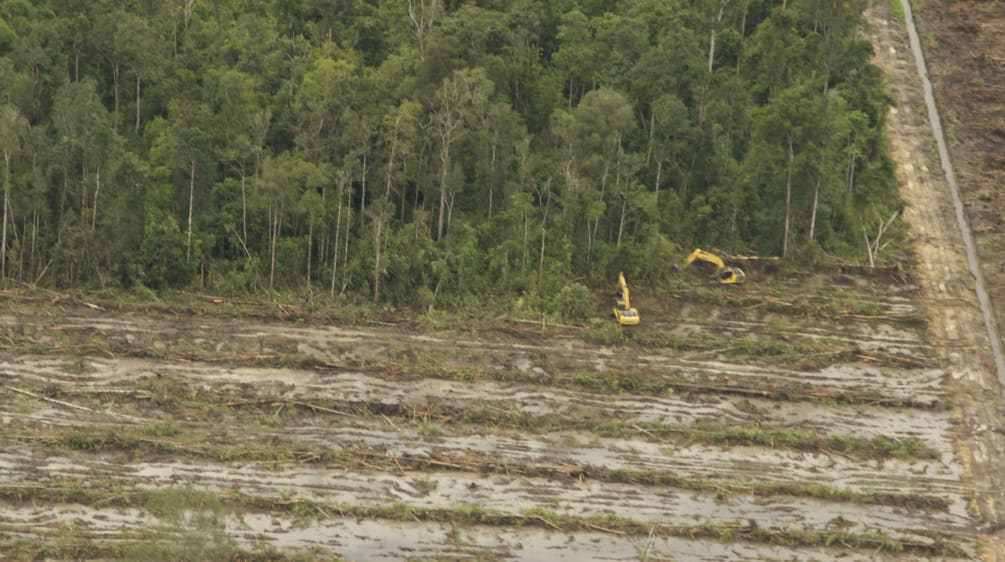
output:
<svg viewBox="0 0 1005 562"><path fill-rule="evenodd" d="M213 324L173 329L170 326L152 326L150 325L152 321L149 319L95 321L91 318L70 318L67 320L68 323L50 328L50 331L66 332L71 329L110 333L114 331L115 336L106 337L110 341L117 342L116 345L121 348L118 352L120 354L129 353L131 349L167 351L172 342L176 344L185 342L180 351L183 354L191 354L198 349L204 350L202 352L204 355L228 351L243 354L244 357L255 353L282 353L287 356L294 354L326 364L350 368L358 366L360 362L388 362L401 357L420 358L422 363L430 367L480 366L489 370L539 372L543 377L556 376L560 370L596 372L625 367L623 362L617 361L620 352L616 349L584 346L569 340L548 342L549 347L545 347L544 344L529 345L512 341L492 343L456 337L447 339L415 334L402 336L381 329L332 327L320 330L254 324L228 326L226 329ZM22 321L22 329L27 322ZM228 334L226 340L220 340L219 335L223 333ZM154 341L141 345L141 340L150 338L151 334L156 335ZM174 349L178 350L179 346L175 345ZM189 351L186 352L185 349ZM866 352L864 349L861 351ZM879 351L878 348L873 348L868 353L874 354L876 351ZM804 397L801 394L814 392L855 393L874 395L893 403L931 405L939 403L945 397L942 388L942 378L945 373L933 368L902 369L887 365L844 363L824 369L798 370L759 366L751 361L733 363L687 360L688 355L698 358L710 354L714 355L715 350L684 354L683 359L672 351L644 353L633 360L627 372L647 377L677 377L696 384L723 381L727 386L736 387L740 394L744 394L745 388L766 388L771 392L780 392L779 397L783 398L798 399ZM889 350L883 351L882 354L883 356L878 358L879 361L907 361L909 365L916 367L930 364L924 357L889 353ZM780 385L788 387L791 392L786 392L786 389L779 390Z"/></svg>

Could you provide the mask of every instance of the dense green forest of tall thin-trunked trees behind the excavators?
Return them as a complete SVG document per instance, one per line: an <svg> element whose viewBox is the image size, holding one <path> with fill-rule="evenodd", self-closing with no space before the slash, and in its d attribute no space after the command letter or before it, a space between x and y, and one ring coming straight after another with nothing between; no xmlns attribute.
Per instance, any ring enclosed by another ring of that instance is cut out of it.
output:
<svg viewBox="0 0 1005 562"><path fill-rule="evenodd" d="M881 256L864 0L2 0L4 283L462 307Z"/></svg>

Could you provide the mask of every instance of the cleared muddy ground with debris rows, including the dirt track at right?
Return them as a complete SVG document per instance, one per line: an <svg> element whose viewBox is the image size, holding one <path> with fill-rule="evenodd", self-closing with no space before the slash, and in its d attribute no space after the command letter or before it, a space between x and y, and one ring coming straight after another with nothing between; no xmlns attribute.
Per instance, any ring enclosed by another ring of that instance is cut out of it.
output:
<svg viewBox="0 0 1005 562"><path fill-rule="evenodd" d="M623 339L9 291L0 560L1000 559L1001 388L870 22L907 267L637 288Z"/></svg>

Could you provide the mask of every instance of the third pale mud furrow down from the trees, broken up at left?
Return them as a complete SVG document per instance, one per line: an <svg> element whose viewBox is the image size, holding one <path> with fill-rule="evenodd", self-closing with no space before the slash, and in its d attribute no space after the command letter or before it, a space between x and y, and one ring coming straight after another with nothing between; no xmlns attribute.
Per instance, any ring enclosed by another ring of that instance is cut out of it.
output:
<svg viewBox="0 0 1005 562"><path fill-rule="evenodd" d="M305 420L310 421L310 417ZM13 418L7 416L5 421L10 435L17 436L18 429L12 423ZM321 427L316 422L310 425L287 423L281 429L259 426L252 433L254 438L226 429L230 424L221 425L218 421L190 424L185 430L203 435L202 442L227 443L231 447L240 447L244 442L252 445L268 443L268 446L278 450L306 448L353 454L362 446L420 462L427 459L450 461L474 455L476 462L497 464L502 467L500 470L512 466L516 471L522 466L522 471L531 474L563 466L559 472L567 475L604 471L641 472L718 481L729 486L819 482L861 494L878 492L936 496L949 502L954 513L965 513L960 498L964 493L959 482L960 467L941 460L862 461L827 452L804 453L750 446L718 447L698 443L680 445L653 442L646 440L644 435L643 438L625 435L615 439L582 431L536 436L516 432L485 434L470 427L466 434L455 434L449 428L434 427L435 431L431 431L415 425L389 427L388 421L356 417L352 418L352 427ZM112 423L119 422L108 420L105 426L109 427ZM104 439L99 432L100 425L93 421L90 425L95 432L74 437L74 440L90 442L92 439ZM217 427L224 429L221 431ZM33 434L26 433L26 436ZM48 438L44 433L39 436ZM170 440L167 442L170 443ZM832 477L823 482L819 477L822 474Z"/></svg>

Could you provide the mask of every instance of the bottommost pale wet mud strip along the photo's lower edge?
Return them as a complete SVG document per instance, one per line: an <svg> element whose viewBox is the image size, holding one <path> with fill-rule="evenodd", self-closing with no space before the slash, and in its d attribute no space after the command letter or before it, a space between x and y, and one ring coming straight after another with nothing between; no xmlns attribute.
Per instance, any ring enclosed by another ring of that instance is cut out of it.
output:
<svg viewBox="0 0 1005 562"><path fill-rule="evenodd" d="M0 504L2 505L2 504ZM110 517L107 510L81 506L25 508L3 506L0 533L26 539L45 540L66 525L75 523L79 534L104 539L125 533L139 533L156 520L142 512L124 511ZM21 524L25 520L51 522L52 528ZM535 528L458 528L449 523L388 522L372 519L344 519L338 515L303 522L288 516L251 511L224 521L227 535L251 548L265 544L280 550L322 549L346 560L485 560L581 562L596 560L603 553L608 560L635 560L640 553L649 560L763 561L800 560L840 562L848 551L834 548L793 548L749 542L725 542L702 538L653 535L650 538L622 537L612 533L563 532ZM48 532L46 532L48 531ZM895 554L856 551L856 560L887 562L900 560ZM935 560L913 557L913 560Z"/></svg>

